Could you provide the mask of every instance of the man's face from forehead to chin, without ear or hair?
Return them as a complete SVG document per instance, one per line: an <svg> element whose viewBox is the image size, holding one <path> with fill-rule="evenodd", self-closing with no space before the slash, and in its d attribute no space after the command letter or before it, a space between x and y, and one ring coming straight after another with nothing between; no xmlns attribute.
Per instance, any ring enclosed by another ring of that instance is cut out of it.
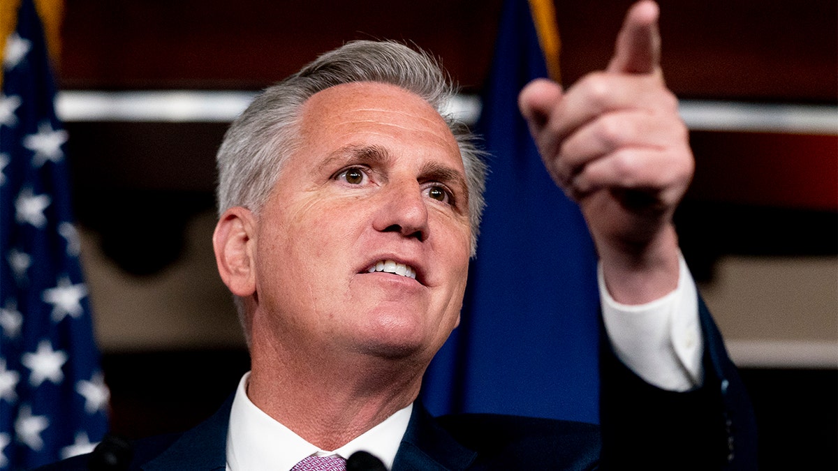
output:
<svg viewBox="0 0 838 471"><path fill-rule="evenodd" d="M300 139L258 216L260 325L285 348L430 360L468 272L453 135L418 96L354 83L306 102Z"/></svg>

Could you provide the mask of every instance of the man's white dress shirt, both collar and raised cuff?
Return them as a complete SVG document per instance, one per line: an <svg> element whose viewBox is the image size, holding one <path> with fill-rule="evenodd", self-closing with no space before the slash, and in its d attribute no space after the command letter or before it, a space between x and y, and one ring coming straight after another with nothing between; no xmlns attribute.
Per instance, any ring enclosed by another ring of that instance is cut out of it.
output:
<svg viewBox="0 0 838 471"><path fill-rule="evenodd" d="M618 303L608 294L602 267L598 278L605 329L618 358L641 378L662 389L688 391L701 386L704 347L698 322L698 294L683 257L675 291L651 303ZM322 450L269 417L248 399L249 375L241 378L230 410L228 471L268 468L287 471L311 455L338 454L349 458L359 450L372 453L388 469L392 468L410 421L412 405L396 411L343 447Z"/></svg>

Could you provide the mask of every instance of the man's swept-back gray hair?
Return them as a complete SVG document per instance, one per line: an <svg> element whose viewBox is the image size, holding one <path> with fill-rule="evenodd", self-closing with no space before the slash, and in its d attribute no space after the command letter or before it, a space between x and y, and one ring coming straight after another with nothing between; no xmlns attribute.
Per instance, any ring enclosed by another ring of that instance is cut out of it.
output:
<svg viewBox="0 0 838 471"><path fill-rule="evenodd" d="M305 101L329 87L363 81L396 85L420 96L439 112L453 133L468 184L473 256L485 205L484 153L468 127L444 111L456 90L437 61L393 42L344 44L256 96L227 130L216 155L219 215L233 206L244 206L258 215L277 183L282 164L299 145L297 130Z"/></svg>

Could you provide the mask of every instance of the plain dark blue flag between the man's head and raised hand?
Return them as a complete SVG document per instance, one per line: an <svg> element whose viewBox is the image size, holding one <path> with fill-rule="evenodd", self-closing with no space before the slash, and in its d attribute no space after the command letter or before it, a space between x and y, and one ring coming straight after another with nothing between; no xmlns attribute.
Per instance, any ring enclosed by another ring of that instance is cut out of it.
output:
<svg viewBox="0 0 838 471"><path fill-rule="evenodd" d="M546 77L526 0L509 0L478 133L489 179L462 322L426 375L434 413L598 422L596 256L576 204L541 163L518 93Z"/></svg>

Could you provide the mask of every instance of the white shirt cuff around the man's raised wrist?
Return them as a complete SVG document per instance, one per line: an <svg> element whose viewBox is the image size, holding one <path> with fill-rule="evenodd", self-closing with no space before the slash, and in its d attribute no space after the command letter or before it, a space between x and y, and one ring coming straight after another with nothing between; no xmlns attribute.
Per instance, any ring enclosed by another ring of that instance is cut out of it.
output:
<svg viewBox="0 0 838 471"><path fill-rule="evenodd" d="M636 375L668 391L689 391L704 379L704 341L698 321L698 292L684 257L675 291L651 303L615 301L597 268L603 321L614 353Z"/></svg>

